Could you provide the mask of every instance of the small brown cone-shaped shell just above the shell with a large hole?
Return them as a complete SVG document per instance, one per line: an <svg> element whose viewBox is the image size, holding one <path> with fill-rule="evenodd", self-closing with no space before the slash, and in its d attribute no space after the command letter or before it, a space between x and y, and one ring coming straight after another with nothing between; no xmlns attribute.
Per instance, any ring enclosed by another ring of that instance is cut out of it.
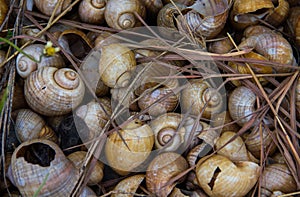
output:
<svg viewBox="0 0 300 197"><path fill-rule="evenodd" d="M18 112L15 131L20 142L37 138L58 142L55 132L46 125L44 119L30 109L21 109Z"/></svg>

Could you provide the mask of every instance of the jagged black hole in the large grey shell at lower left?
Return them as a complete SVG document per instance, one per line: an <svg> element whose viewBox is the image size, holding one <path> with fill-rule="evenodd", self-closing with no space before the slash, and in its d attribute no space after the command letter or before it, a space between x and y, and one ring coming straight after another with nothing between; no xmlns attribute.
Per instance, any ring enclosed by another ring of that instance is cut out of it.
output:
<svg viewBox="0 0 300 197"><path fill-rule="evenodd" d="M54 160L55 151L50 146L37 142L22 147L16 155L16 158L20 157L24 157L25 161L31 164L47 167Z"/></svg>

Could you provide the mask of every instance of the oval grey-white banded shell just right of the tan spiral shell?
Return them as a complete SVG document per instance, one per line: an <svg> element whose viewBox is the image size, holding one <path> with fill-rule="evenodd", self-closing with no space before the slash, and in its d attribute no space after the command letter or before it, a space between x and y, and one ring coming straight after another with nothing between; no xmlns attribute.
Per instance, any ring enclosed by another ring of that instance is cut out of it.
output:
<svg viewBox="0 0 300 197"><path fill-rule="evenodd" d="M234 89L229 95L228 110L233 120L243 126L253 116L255 111L256 96L252 90L245 86Z"/></svg>

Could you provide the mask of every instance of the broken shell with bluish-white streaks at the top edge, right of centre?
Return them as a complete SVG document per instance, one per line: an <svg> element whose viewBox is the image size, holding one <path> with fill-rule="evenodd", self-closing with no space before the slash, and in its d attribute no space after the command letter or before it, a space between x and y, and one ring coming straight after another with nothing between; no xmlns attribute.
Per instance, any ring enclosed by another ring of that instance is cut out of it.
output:
<svg viewBox="0 0 300 197"><path fill-rule="evenodd" d="M227 0L203 0L196 1L192 9L185 15L177 17L179 31L189 34L190 31L197 37L213 38L217 36L225 26L229 5ZM186 12L183 10L183 12ZM190 30L190 31L189 31Z"/></svg>

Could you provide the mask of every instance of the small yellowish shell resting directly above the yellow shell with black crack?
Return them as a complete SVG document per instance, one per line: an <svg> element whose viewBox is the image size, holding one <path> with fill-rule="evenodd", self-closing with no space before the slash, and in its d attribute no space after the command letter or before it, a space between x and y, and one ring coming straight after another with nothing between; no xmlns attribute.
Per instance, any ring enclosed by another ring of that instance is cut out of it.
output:
<svg viewBox="0 0 300 197"><path fill-rule="evenodd" d="M219 150L218 154L227 157L233 162L236 161L257 162L254 156L247 150L245 142L240 136L237 136L236 139L228 143L233 137L235 137L235 135L236 133L231 131L226 131L221 134L221 136L216 142L216 149ZM221 147L223 148L220 149Z"/></svg>

